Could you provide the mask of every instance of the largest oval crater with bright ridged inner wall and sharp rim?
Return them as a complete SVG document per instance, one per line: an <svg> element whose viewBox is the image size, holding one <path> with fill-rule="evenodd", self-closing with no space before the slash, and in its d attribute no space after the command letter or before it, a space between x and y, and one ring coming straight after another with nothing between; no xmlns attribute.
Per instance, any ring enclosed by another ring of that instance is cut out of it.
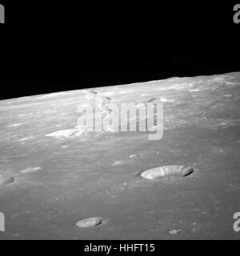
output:
<svg viewBox="0 0 240 256"><path fill-rule="evenodd" d="M140 173L142 178L147 179L170 179L183 178L194 172L190 166L160 166Z"/></svg>

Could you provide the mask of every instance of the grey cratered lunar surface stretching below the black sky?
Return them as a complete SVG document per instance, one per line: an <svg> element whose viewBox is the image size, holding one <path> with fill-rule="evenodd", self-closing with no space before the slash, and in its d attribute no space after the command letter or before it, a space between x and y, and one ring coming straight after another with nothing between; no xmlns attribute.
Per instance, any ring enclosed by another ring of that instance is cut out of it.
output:
<svg viewBox="0 0 240 256"><path fill-rule="evenodd" d="M230 73L93 89L118 104L160 99L160 140L78 126L88 89L2 100L0 239L239 239L239 86ZM194 171L139 175L166 166Z"/></svg>

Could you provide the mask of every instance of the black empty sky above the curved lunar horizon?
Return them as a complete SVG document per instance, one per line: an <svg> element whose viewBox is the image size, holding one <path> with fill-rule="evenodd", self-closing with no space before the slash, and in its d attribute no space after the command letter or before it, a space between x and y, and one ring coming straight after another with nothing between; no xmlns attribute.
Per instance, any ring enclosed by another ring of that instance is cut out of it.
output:
<svg viewBox="0 0 240 256"><path fill-rule="evenodd" d="M0 3L1 99L240 71L238 2Z"/></svg>

